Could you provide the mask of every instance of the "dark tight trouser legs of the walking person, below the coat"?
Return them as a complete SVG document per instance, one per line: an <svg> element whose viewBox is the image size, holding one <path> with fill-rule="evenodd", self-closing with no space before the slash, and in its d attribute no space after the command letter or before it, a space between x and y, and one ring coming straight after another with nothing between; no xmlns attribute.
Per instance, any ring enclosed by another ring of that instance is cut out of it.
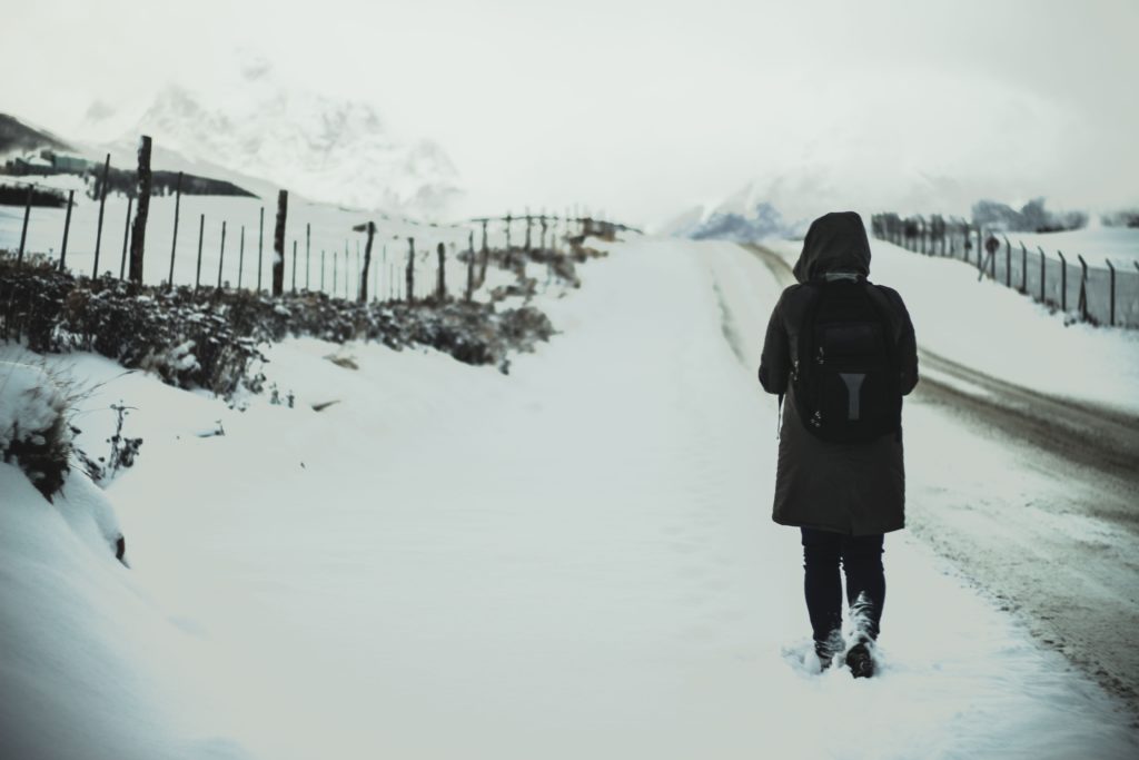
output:
<svg viewBox="0 0 1139 760"><path fill-rule="evenodd" d="M803 528L803 589L806 612L816 641L825 641L831 631L842 628L843 583L838 562L846 572L846 602L850 605L866 594L865 632L878 637L882 607L886 602L886 577L882 569L884 537L845 536Z"/></svg>

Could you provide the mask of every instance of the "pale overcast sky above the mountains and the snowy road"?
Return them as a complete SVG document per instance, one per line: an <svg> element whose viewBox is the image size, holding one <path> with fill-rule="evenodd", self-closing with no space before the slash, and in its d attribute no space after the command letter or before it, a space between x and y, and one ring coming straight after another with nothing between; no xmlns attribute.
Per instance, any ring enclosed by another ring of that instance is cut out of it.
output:
<svg viewBox="0 0 1139 760"><path fill-rule="evenodd" d="M644 223L776 180L788 205L1139 203L1134 0L0 2L0 112L82 138L92 100L208 96L245 48L440 142L461 211Z"/></svg>

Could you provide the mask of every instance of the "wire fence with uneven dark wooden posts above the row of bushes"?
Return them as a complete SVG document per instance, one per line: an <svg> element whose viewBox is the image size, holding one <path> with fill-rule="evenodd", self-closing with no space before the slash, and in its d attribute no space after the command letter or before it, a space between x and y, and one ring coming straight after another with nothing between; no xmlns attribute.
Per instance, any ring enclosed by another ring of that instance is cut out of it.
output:
<svg viewBox="0 0 1139 760"><path fill-rule="evenodd" d="M95 173L93 190L80 190L79 202L75 189L25 181L23 209L10 199L0 205L0 238L10 240L0 248L17 260L47 255L75 275L109 273L166 288L415 301L449 297L449 284L470 299L485 279L492 248L557 252L574 238L632 229L570 210L443 224L308 203L290 210L285 190L276 215L271 207L267 214L264 202L254 196L190 194L190 181L198 178L187 175L183 193L181 173L172 193L151 194L149 180L142 179L150 174L144 144L149 148L149 138L140 141L139 167L132 172L137 187L128 194L107 193L109 155L99 167L101 175ZM11 213L16 210L22 213Z"/></svg>

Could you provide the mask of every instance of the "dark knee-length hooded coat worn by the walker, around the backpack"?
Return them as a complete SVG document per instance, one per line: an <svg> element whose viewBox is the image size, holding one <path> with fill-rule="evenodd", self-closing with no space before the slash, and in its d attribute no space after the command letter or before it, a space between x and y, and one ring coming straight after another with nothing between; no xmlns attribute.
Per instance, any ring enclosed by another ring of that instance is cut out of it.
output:
<svg viewBox="0 0 1139 760"><path fill-rule="evenodd" d="M870 273L870 243L862 219L854 212L817 219L803 240L795 264L800 284L787 287L768 324L760 360L760 383L768 393L787 393L779 438L775 508L771 518L849 536L868 536L906 525L906 469L902 435L884 435L867 443L836 443L816 438L795 411L794 389L788 382L796 359L800 330L810 301L810 280L845 272L866 278ZM874 285L885 294L891 329L901 360L901 389L909 393L918 381L913 325L901 296Z"/></svg>

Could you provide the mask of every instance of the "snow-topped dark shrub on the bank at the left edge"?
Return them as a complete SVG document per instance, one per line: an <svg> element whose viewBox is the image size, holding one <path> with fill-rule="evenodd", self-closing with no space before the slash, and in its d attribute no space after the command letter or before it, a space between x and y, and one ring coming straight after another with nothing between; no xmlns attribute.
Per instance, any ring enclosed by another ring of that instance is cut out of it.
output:
<svg viewBox="0 0 1139 760"><path fill-rule="evenodd" d="M48 500L69 469L71 402L43 369L0 361L0 460L24 471Z"/></svg>

